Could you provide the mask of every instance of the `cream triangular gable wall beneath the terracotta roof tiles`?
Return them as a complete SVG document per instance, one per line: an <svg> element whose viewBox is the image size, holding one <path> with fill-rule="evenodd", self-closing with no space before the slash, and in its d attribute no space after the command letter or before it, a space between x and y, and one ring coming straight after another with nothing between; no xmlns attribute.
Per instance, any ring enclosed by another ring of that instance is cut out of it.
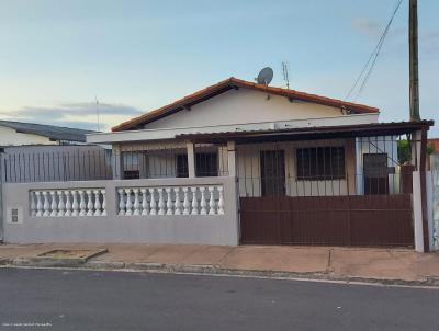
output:
<svg viewBox="0 0 439 331"><path fill-rule="evenodd" d="M147 129L278 122L342 115L340 109L311 102L290 102L284 96L249 89L230 90L156 122Z"/></svg>

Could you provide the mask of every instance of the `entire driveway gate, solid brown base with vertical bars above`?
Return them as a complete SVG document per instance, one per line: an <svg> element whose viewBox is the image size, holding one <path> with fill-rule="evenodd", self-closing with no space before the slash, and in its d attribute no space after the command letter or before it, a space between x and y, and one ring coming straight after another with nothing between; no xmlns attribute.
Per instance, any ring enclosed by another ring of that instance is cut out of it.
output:
<svg viewBox="0 0 439 331"><path fill-rule="evenodd" d="M413 247L413 169L396 139L238 146L240 242Z"/></svg>

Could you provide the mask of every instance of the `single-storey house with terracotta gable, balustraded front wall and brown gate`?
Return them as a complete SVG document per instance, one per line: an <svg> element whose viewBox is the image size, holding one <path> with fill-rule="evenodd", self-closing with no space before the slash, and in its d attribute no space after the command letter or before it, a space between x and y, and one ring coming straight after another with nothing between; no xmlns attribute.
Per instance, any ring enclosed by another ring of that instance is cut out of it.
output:
<svg viewBox="0 0 439 331"><path fill-rule="evenodd" d="M420 197L432 122L379 123L379 114L229 78L87 135L112 146L111 181L9 187L25 198L9 207L21 217L5 216L4 237L428 250ZM401 139L409 169L398 163Z"/></svg>

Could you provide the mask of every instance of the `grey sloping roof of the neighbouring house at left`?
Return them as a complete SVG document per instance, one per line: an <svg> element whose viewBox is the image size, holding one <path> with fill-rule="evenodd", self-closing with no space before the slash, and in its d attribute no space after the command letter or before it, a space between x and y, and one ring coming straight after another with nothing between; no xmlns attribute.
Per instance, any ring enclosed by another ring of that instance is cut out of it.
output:
<svg viewBox="0 0 439 331"><path fill-rule="evenodd" d="M0 126L12 128L18 133L34 134L47 137L53 140L78 141L78 142L86 142L86 134L94 133L91 130L86 130L80 128L13 122L13 121L0 121Z"/></svg>

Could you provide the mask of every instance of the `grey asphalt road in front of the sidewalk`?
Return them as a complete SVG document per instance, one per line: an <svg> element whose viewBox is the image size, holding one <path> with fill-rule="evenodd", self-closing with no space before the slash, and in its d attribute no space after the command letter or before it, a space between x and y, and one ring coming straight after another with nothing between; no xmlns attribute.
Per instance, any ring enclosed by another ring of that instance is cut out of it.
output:
<svg viewBox="0 0 439 331"><path fill-rule="evenodd" d="M439 290L0 269L0 330L439 330Z"/></svg>

